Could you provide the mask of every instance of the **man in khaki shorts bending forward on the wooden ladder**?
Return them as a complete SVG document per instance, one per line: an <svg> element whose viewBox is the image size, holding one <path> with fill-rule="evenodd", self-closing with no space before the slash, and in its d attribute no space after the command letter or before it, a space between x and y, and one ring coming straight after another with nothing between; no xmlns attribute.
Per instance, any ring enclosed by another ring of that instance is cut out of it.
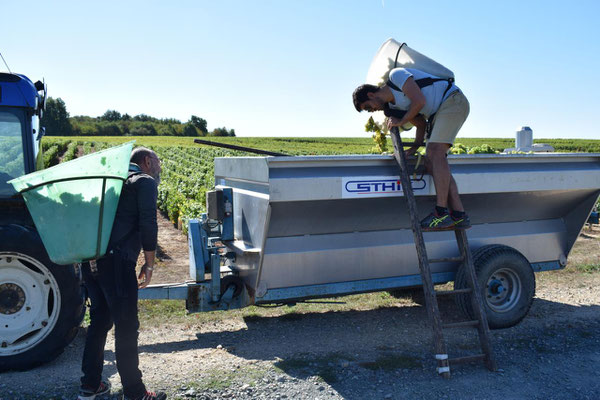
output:
<svg viewBox="0 0 600 400"><path fill-rule="evenodd" d="M433 175L436 206L421 221L422 229L470 227L447 160L448 150L469 115L469 101L454 82L418 69L395 68L385 85L361 85L352 94L352 100L359 112L384 111L390 129L414 125L416 144L423 143L428 133L425 163ZM411 147L406 154L415 154L418 147Z"/></svg>

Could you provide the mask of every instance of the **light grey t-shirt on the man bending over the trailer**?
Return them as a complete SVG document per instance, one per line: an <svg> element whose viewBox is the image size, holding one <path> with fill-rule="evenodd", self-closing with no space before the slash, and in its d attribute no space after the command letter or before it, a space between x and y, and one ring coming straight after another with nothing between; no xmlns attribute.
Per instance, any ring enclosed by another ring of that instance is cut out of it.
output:
<svg viewBox="0 0 600 400"><path fill-rule="evenodd" d="M392 81L394 85L402 89L402 86L404 86L406 80L411 76L415 81L421 78L439 78L423 71L419 71L418 69L394 68L390 72L389 80ZM425 106L420 113L423 114L425 118L429 118L432 114L437 112L443 101L446 100L451 93L458 90L458 87L456 87L454 84L452 84L447 92L446 88L448 88L447 81L434 82L432 85L421 88L421 92L423 92L423 95L425 96ZM389 103L390 108L408 110L410 108L410 99L403 92L392 89L391 87L390 89L392 90L394 99L396 101L395 104ZM446 92L445 96L444 92Z"/></svg>

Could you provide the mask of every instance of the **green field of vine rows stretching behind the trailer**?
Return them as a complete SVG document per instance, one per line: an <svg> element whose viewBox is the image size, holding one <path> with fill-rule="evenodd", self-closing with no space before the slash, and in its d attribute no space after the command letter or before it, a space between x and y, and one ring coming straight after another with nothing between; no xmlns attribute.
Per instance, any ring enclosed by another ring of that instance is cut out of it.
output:
<svg viewBox="0 0 600 400"><path fill-rule="evenodd" d="M211 141L268 150L289 155L370 154L371 138L210 138ZM174 223L186 230L190 218L205 211L206 191L214 186L215 157L252 154L198 145L192 138L174 137L46 137L43 139L44 166L49 167L110 146L136 140L136 145L153 149L162 160L158 207ZM407 141L412 139L408 138ZM388 140L389 141L389 140ZM456 152L495 152L513 147L513 139L459 138ZM600 140L540 139L557 152L600 153ZM391 148L388 145L388 148Z"/></svg>

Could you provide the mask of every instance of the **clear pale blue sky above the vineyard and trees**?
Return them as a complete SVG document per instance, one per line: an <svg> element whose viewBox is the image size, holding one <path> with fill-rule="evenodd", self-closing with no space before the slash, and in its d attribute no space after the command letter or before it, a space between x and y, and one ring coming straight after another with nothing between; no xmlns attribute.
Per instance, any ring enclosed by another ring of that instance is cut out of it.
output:
<svg viewBox="0 0 600 400"><path fill-rule="evenodd" d="M351 94L393 37L454 71L471 103L459 136L529 125L534 138L600 138L599 1L0 4L0 52L14 72L44 77L72 116L194 114L238 136L368 136Z"/></svg>

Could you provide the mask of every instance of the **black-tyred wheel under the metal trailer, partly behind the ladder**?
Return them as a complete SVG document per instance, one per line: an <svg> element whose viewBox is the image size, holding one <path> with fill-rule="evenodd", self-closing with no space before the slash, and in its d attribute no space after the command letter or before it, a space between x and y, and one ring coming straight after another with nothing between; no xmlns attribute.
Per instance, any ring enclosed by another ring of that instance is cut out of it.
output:
<svg viewBox="0 0 600 400"><path fill-rule="evenodd" d="M473 263L490 329L518 324L529 312L535 295L535 275L529 261L512 247L487 245L473 253ZM461 267L454 288L468 287ZM465 315L476 319L469 294L456 296L456 303Z"/></svg>

